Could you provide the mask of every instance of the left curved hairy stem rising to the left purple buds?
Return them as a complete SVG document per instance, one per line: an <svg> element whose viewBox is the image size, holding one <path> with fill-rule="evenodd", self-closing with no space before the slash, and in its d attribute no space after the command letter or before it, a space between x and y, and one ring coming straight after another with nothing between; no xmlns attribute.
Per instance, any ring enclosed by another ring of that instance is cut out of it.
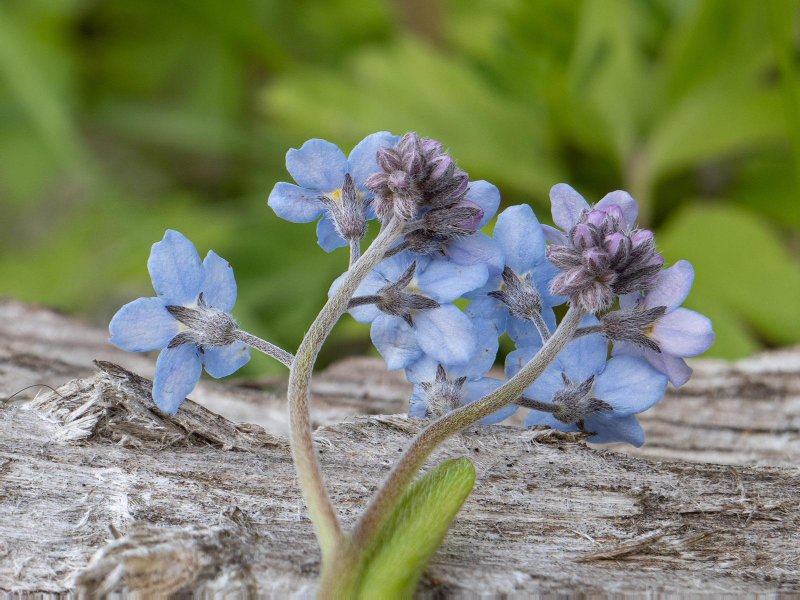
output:
<svg viewBox="0 0 800 600"><path fill-rule="evenodd" d="M339 317L347 310L347 303L367 274L383 260L386 251L402 232L402 222L390 220L364 255L350 267L341 285L322 307L309 327L289 372L289 441L292 446L297 478L303 499L308 506L311 521L322 549L323 562L332 555L337 544L344 539L339 518L331 505L328 491L322 480L322 470L314 449L314 439L309 415L309 385L314 363L322 344Z"/></svg>

